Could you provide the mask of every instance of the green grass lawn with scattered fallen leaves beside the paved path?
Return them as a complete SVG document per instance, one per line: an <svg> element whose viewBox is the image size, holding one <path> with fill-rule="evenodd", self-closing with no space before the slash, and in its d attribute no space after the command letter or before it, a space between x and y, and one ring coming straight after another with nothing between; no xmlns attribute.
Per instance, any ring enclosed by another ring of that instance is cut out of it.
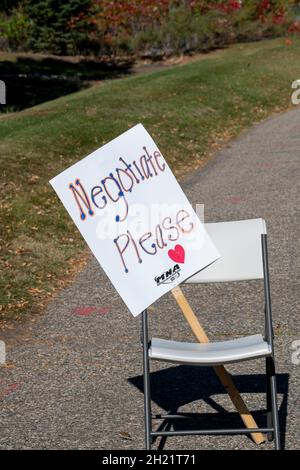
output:
<svg viewBox="0 0 300 470"><path fill-rule="evenodd" d="M290 105L299 46L237 45L0 116L2 324L38 311L84 258L50 178L138 122L183 177L224 141Z"/></svg>

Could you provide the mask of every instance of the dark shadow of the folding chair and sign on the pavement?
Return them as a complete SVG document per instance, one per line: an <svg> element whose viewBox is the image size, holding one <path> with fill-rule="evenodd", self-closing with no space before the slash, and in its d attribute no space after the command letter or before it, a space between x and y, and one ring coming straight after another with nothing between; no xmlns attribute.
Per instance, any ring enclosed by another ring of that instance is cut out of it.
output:
<svg viewBox="0 0 300 470"><path fill-rule="evenodd" d="M266 378L264 374L234 375L234 383L241 393L266 392ZM217 429L243 427L238 413L228 412L213 398L215 395L224 395L224 388L217 379L212 368L197 366L175 366L150 374L151 398L166 414L182 413L189 419L163 419L157 427L158 430L183 429ZM128 381L143 392L143 376L131 377ZM286 417L288 404L289 374L277 374L278 402L280 405L279 419L281 431L281 445L285 446ZM194 401L203 400L215 413L201 413L192 418L191 414L180 410L184 405ZM266 426L265 410L251 411L258 426ZM155 427L156 420L153 420ZM200 423L200 424L199 424ZM250 437L249 437L250 438ZM160 438L159 449L163 449L166 439Z"/></svg>

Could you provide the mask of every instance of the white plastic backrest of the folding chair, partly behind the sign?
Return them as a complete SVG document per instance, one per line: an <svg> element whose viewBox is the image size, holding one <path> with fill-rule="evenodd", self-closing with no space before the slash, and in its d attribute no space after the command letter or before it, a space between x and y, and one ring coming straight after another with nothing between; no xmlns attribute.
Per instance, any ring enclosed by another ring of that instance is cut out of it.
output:
<svg viewBox="0 0 300 470"><path fill-rule="evenodd" d="M263 279L261 235L264 219L207 223L205 228L221 258L187 279L186 283L246 281Z"/></svg>

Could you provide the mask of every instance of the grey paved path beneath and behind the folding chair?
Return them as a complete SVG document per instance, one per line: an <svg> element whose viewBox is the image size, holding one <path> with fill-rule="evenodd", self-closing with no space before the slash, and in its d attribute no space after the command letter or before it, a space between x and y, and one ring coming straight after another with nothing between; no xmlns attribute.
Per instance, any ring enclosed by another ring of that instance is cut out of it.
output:
<svg viewBox="0 0 300 470"><path fill-rule="evenodd" d="M267 221L280 418L288 449L300 447L300 365L291 359L292 342L300 339L299 159L300 108L296 108L243 134L184 184L193 203L205 202L207 221L258 216ZM212 338L261 331L263 292L256 281L184 290ZM102 310L78 316L80 306ZM126 312L99 266L91 262L42 318L28 323L7 338L13 366L0 369L0 448L143 448L139 321ZM161 336L173 331L179 340L192 339L171 295L151 309L151 325L152 332ZM163 370L157 363L152 370L154 412L178 407L201 410L202 425L214 426L219 410L233 411L210 369ZM229 370L248 405L263 407L263 361ZM214 414L207 416L208 412ZM229 418L239 426L239 418L230 413L219 424ZM246 436L178 437L155 442L155 447L159 445L256 448Z"/></svg>

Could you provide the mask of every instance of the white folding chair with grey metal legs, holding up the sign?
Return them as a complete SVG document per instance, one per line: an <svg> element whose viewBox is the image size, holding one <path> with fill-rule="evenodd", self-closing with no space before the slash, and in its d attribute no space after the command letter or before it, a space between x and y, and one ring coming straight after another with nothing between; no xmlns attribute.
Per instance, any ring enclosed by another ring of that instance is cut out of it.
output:
<svg viewBox="0 0 300 470"><path fill-rule="evenodd" d="M216 366L264 357L266 360L267 426L257 431L266 432L280 449L277 388L273 347L273 326L266 224L263 219L241 220L205 224L205 228L218 248L221 258L201 270L187 283L230 282L261 279L265 293L265 333L229 341L208 344L187 343L159 338L148 340L147 311L142 313L142 342L144 366L145 443L150 449L156 436L188 434L250 434L247 428L220 430L152 431L149 359ZM178 415L179 417L179 415ZM173 416L171 418L176 418Z"/></svg>

